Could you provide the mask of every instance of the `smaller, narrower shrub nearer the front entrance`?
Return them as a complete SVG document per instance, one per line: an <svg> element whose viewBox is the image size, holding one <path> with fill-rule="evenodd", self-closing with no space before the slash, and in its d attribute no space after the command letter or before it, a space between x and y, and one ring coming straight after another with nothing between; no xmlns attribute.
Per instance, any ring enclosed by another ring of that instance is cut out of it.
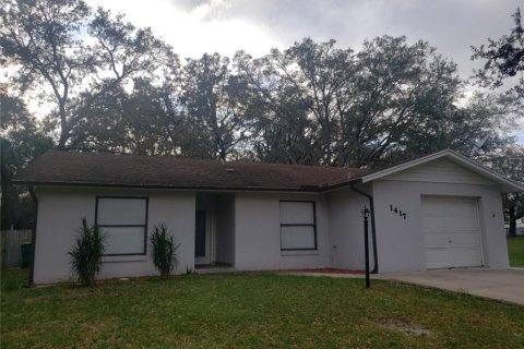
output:
<svg viewBox="0 0 524 349"><path fill-rule="evenodd" d="M177 249L174 237L165 224L159 224L153 228L151 236L151 245L153 246L153 263L162 276L169 276L177 264Z"/></svg>

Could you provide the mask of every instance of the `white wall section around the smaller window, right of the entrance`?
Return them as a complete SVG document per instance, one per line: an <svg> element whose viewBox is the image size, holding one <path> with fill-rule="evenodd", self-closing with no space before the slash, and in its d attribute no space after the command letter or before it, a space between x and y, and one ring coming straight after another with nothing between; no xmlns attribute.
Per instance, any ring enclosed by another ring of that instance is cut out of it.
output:
<svg viewBox="0 0 524 349"><path fill-rule="evenodd" d="M281 251L279 201L314 201L317 251ZM327 202L322 195L235 194L235 268L322 268L330 263Z"/></svg>

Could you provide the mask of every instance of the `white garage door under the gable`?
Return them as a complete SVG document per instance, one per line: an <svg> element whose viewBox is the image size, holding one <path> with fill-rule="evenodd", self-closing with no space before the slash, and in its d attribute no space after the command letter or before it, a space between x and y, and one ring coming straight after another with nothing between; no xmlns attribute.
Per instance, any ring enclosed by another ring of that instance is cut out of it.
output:
<svg viewBox="0 0 524 349"><path fill-rule="evenodd" d="M481 266L477 200L422 196L426 267Z"/></svg>

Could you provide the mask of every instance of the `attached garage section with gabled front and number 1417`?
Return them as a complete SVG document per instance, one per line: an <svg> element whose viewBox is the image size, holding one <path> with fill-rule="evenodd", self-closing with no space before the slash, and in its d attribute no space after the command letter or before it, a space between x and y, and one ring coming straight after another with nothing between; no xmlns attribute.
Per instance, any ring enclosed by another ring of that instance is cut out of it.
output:
<svg viewBox="0 0 524 349"><path fill-rule="evenodd" d="M354 186L366 185L379 273L509 266L501 193L524 185L452 151L371 172Z"/></svg>

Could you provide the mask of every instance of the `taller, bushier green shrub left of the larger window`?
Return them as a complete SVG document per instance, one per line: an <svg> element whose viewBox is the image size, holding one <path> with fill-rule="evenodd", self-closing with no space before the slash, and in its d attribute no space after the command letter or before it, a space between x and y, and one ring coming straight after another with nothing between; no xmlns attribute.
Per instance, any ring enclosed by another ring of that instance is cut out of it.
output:
<svg viewBox="0 0 524 349"><path fill-rule="evenodd" d="M97 226L90 227L85 218L82 218L79 232L69 252L71 266L79 282L90 286L95 284L95 277L100 270L106 237Z"/></svg>

